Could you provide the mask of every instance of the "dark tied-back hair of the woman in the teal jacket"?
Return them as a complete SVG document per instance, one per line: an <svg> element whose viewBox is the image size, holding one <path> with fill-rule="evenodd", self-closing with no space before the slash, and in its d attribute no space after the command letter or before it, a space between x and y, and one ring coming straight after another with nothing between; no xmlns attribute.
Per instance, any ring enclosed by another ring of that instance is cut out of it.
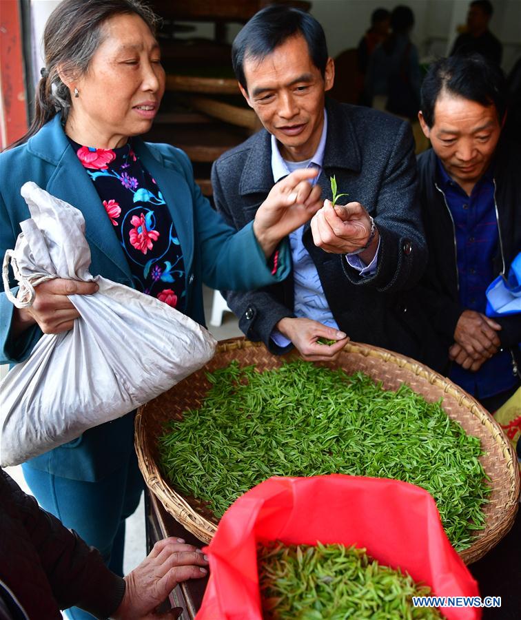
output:
<svg viewBox="0 0 521 620"><path fill-rule="evenodd" d="M28 132L11 147L24 143L56 114L66 120L70 92L60 73L85 74L103 41L105 21L121 14L136 14L156 32L154 12L140 0L63 0L52 11L43 31L45 67L35 95L34 119Z"/></svg>

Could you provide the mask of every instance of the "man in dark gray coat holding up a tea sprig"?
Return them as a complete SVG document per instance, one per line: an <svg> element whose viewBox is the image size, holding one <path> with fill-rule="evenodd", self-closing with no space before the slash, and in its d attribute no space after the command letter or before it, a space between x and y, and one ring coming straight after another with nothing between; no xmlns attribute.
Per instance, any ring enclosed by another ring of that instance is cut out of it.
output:
<svg viewBox="0 0 521 620"><path fill-rule="evenodd" d="M408 123L326 100L334 63L309 14L269 6L234 41L234 70L265 129L226 152L212 169L216 207L237 229L254 218L274 183L300 167L330 178L343 207L325 200L290 235L293 278L251 293L223 291L251 340L308 360L331 360L346 338L440 366L431 329L409 292L427 261ZM335 340L320 344L319 339Z"/></svg>

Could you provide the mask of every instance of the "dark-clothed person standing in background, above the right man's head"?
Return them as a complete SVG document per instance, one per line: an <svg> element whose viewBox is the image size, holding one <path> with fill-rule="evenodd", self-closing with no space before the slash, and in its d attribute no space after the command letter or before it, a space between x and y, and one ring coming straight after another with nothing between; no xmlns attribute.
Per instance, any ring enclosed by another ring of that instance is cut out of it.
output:
<svg viewBox="0 0 521 620"><path fill-rule="evenodd" d="M501 64L503 46L489 30L493 12L494 8L489 0L474 0L470 3L467 31L462 32L454 41L451 56L478 53L498 65Z"/></svg>

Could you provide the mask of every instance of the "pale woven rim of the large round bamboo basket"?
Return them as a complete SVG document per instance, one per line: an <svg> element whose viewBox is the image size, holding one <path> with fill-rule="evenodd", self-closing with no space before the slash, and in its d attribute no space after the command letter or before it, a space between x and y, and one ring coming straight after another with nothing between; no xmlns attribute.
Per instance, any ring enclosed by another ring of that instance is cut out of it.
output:
<svg viewBox="0 0 521 620"><path fill-rule="evenodd" d="M218 353L234 350L240 351L241 349L247 349L249 347L264 348L264 344L246 340L244 337L229 338L219 342L216 355ZM410 373L413 373L413 375L427 380L429 384L441 388L444 394L456 398L460 407L467 409L472 415L476 416L480 424L487 429L487 433L493 437L494 443L500 449L506 462L509 490L507 502L501 506L502 520L499 524L496 524L496 528L489 534L488 539L484 539L478 532L473 544L460 552L460 557L465 564L471 564L473 561L477 561L507 534L513 525L518 510L521 478L519 475L517 457L513 450L513 446L504 434L500 424L498 424L488 411L471 395L462 390L459 386L456 386L456 384L453 384L447 378L429 369L428 366L420 364L420 362L412 358L407 358L405 355L359 342L347 342L344 350L347 353L357 353L365 357L377 358L379 362L382 363L395 364L400 369L406 369ZM271 355L267 350L266 353L267 355ZM165 510L167 510L174 519L179 521L181 525L198 537L198 539L205 543L209 543L216 533L216 524L196 512L190 505L190 502L187 502L183 496L179 495L176 490L168 484L163 478L159 466L154 462L154 459L150 457L147 444L146 419L144 415L146 407L147 405L145 404L139 408L135 420L136 453L145 482L148 488L150 488L159 499Z"/></svg>

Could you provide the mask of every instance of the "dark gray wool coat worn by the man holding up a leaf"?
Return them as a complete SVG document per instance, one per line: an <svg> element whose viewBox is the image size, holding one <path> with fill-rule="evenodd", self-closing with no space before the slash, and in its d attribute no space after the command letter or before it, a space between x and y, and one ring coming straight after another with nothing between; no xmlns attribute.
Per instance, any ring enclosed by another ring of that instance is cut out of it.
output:
<svg viewBox="0 0 521 620"><path fill-rule="evenodd" d="M309 223L303 242L314 261L329 308L351 340L375 344L440 369L446 358L413 294L427 263L416 160L409 123L367 107L327 100L327 138L322 198L331 199L329 177L339 192L358 201L380 232L378 268L361 277L344 256L316 247ZM242 228L255 216L274 185L270 135L254 134L227 151L212 167L214 200L229 224ZM223 291L250 340L285 353L269 338L276 323L294 316L293 280L249 293Z"/></svg>

